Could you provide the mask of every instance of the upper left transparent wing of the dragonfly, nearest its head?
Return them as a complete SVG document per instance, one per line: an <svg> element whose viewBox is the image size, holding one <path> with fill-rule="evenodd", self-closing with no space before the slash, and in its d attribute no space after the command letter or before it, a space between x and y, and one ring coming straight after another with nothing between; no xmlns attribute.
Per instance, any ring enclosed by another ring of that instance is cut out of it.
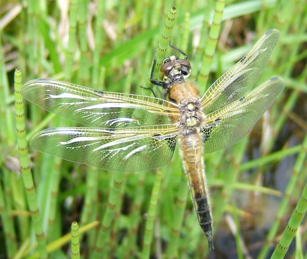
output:
<svg viewBox="0 0 307 259"><path fill-rule="evenodd" d="M101 92L81 85L35 79L21 88L21 95L64 118L93 127L126 128L168 124L176 104L141 95ZM171 113L172 112L172 113Z"/></svg>

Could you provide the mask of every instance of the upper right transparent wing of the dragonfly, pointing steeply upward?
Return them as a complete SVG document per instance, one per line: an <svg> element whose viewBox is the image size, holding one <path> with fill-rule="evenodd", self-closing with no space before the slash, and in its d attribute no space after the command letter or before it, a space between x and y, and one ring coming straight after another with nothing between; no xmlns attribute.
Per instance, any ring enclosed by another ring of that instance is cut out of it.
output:
<svg viewBox="0 0 307 259"><path fill-rule="evenodd" d="M237 64L210 86L201 98L205 114L231 104L251 89L266 66L279 35L276 29L266 32Z"/></svg>

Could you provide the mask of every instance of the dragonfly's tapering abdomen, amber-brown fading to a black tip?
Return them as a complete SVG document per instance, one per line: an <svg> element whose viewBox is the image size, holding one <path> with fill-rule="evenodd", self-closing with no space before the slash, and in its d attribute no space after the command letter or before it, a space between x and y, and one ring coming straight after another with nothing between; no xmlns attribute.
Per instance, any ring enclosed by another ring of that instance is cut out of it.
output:
<svg viewBox="0 0 307 259"><path fill-rule="evenodd" d="M208 240L209 248L213 249L212 219L210 201L206 192L208 188L204 173L202 138L200 133L196 132L179 137L178 143L198 222Z"/></svg>

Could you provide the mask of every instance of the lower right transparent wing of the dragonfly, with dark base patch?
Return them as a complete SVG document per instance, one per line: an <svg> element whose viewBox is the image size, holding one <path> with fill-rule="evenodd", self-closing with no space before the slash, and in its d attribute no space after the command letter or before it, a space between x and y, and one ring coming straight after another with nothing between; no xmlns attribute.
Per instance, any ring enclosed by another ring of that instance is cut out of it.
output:
<svg viewBox="0 0 307 259"><path fill-rule="evenodd" d="M208 114L205 121L208 127L201 130L205 152L228 147L247 135L284 86L282 79L272 78L241 99Z"/></svg>

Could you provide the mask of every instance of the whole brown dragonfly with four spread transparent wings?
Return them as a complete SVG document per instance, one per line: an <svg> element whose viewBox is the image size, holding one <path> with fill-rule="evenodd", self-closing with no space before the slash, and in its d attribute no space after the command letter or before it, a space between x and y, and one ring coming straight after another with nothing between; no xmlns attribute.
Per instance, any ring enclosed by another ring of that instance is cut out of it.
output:
<svg viewBox="0 0 307 259"><path fill-rule="evenodd" d="M49 112L90 127L48 128L30 146L62 159L104 170L135 172L168 164L178 143L199 225L213 249L212 214L204 153L228 147L251 131L284 88L274 77L251 90L278 42L276 29L217 79L203 96L186 78L191 64L184 55L165 58L150 81L154 97L104 92L52 79L25 83L21 95Z"/></svg>

